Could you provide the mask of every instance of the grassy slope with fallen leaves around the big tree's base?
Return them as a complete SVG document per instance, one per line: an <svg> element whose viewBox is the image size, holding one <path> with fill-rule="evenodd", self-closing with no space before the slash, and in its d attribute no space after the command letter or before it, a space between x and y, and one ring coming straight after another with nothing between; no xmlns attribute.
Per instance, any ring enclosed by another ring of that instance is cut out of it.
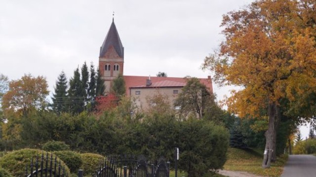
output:
<svg viewBox="0 0 316 177"><path fill-rule="evenodd" d="M229 148L227 161L224 170L243 171L255 175L266 177L279 177L283 172L283 166L287 161L287 156L278 157L275 163L272 163L270 169L262 169L263 155L257 150L241 150L237 148Z"/></svg>

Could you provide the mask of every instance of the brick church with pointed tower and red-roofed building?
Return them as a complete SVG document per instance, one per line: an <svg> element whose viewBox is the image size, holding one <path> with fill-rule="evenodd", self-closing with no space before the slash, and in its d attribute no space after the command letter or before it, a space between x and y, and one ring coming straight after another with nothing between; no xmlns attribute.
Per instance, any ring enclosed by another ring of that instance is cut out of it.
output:
<svg viewBox="0 0 316 177"><path fill-rule="evenodd" d="M106 35L99 55L99 71L106 87L105 92L109 93L111 82L118 74L123 75L126 87L126 96L134 98L136 105L147 108L155 103L147 103L148 97L156 94L165 95L170 103L173 103L177 94L186 85L186 79L181 77L149 77L124 75L124 47L118 35L114 23ZM199 81L206 85L209 92L213 92L211 77L199 78ZM172 105L173 106L173 105Z"/></svg>

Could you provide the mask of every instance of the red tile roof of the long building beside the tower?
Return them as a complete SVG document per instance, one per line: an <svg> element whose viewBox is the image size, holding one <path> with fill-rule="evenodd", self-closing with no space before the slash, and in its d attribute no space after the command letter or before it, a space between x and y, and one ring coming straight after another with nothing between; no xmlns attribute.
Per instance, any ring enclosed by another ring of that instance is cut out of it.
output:
<svg viewBox="0 0 316 177"><path fill-rule="evenodd" d="M134 75L124 75L126 95L129 96L129 88L131 87L146 87L146 80L149 79L148 76L134 76ZM186 79L181 77L150 77L152 85L150 87L183 87L186 84ZM199 78L199 81L206 85L210 92L213 92L212 80L211 78ZM153 85L156 86L153 86ZM184 85L183 85L184 84ZM162 86L158 86L162 85Z"/></svg>

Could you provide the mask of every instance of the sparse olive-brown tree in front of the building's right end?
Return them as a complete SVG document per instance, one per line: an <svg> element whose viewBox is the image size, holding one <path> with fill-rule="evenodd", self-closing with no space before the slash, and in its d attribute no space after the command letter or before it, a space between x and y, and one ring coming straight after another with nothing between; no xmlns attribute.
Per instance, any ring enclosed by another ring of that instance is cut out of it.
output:
<svg viewBox="0 0 316 177"><path fill-rule="evenodd" d="M187 116L194 113L194 116L201 118L210 101L210 93L207 87L200 83L198 78L187 78L187 84L182 88L182 92L175 100L175 106L181 106L180 112Z"/></svg>

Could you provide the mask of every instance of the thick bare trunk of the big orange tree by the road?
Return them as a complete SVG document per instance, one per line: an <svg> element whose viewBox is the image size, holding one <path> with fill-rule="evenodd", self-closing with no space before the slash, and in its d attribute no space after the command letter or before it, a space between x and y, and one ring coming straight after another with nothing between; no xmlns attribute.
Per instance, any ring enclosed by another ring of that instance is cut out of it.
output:
<svg viewBox="0 0 316 177"><path fill-rule="evenodd" d="M269 122L265 133L266 147L264 151L262 168L270 168L272 159L276 158L276 129L278 124L278 106L275 102L268 106ZM274 157L273 157L274 156Z"/></svg>

